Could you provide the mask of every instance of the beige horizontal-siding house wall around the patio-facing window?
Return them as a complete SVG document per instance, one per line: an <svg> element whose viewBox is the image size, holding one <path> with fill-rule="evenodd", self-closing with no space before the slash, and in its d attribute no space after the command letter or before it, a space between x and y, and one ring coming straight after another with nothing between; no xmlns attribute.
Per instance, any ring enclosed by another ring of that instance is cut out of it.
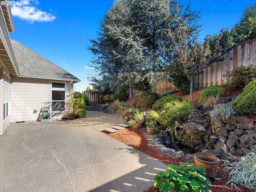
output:
<svg viewBox="0 0 256 192"><path fill-rule="evenodd" d="M42 107L50 107L51 82L52 80L47 79L12 76L10 122L40 121ZM70 82L66 84L67 101L71 96L72 88ZM66 118L67 110L66 107L65 111L51 112L52 120Z"/></svg>

